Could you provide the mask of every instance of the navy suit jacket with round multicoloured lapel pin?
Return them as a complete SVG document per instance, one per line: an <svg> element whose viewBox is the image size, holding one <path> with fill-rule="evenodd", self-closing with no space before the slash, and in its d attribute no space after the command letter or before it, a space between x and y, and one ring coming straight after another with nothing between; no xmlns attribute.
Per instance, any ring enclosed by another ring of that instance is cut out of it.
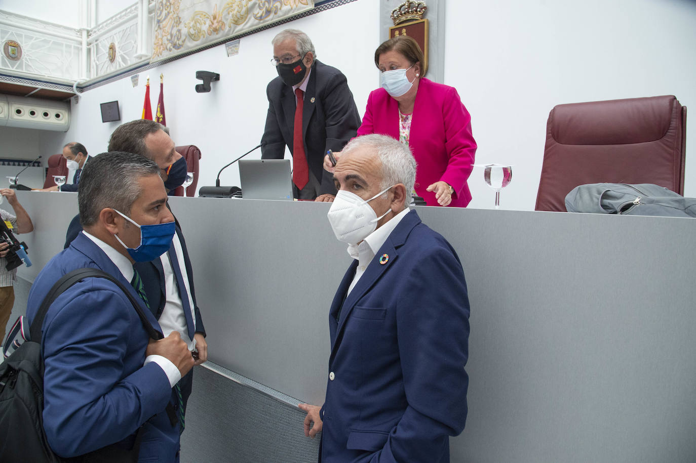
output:
<svg viewBox="0 0 696 463"><path fill-rule="evenodd" d="M448 462L449 436L464 430L467 412L459 258L411 211L346 298L357 263L331 304L319 461Z"/></svg>

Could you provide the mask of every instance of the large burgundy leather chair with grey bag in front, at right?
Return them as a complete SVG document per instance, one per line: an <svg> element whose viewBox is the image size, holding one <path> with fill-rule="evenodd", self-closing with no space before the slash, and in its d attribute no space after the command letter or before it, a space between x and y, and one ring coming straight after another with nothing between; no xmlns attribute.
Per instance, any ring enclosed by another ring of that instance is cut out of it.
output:
<svg viewBox="0 0 696 463"><path fill-rule="evenodd" d="M559 104L548 114L537 211L578 185L656 184L683 195L686 106L673 95Z"/></svg>

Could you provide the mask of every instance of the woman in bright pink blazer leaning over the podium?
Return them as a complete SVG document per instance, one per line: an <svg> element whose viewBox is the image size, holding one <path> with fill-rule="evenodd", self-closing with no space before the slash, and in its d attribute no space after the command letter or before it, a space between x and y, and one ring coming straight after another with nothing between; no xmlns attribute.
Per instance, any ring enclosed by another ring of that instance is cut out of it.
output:
<svg viewBox="0 0 696 463"><path fill-rule="evenodd" d="M427 65L416 40L400 35L381 44L374 64L381 88L370 93L358 136L388 135L416 158L416 193L429 206L466 207L466 184L476 142L471 117L457 89L425 79Z"/></svg>

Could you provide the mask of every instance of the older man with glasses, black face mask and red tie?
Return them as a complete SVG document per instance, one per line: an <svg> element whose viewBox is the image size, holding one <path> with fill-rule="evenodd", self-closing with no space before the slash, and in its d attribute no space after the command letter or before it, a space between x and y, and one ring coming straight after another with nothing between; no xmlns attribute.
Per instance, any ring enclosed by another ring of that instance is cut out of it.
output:
<svg viewBox="0 0 696 463"><path fill-rule="evenodd" d="M317 60L310 38L296 29L274 37L278 77L266 89L269 106L261 138L262 159L292 154L294 197L330 202L336 193L324 170L327 149L340 151L356 135L361 119L345 75Z"/></svg>

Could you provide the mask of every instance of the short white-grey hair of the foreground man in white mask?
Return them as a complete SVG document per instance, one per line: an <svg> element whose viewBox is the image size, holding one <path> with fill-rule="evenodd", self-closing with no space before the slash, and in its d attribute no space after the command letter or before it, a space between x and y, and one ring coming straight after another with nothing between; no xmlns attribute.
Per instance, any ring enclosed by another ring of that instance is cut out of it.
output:
<svg viewBox="0 0 696 463"><path fill-rule="evenodd" d="M404 184L406 187L406 206L408 206L411 202L413 184L416 183L416 159L413 159L411 149L399 140L372 133L350 140L341 150L341 154L349 154L358 148L365 147L377 151L379 160L382 162L380 189L384 190L395 184Z"/></svg>

